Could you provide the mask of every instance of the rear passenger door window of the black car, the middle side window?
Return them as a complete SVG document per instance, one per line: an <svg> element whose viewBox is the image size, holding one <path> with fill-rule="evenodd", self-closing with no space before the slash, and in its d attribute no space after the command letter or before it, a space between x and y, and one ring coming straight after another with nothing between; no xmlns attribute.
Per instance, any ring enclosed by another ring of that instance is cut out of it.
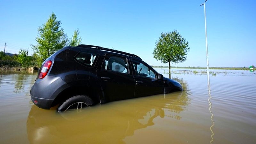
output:
<svg viewBox="0 0 256 144"><path fill-rule="evenodd" d="M125 57L106 55L101 68L114 72L128 73L127 59Z"/></svg>

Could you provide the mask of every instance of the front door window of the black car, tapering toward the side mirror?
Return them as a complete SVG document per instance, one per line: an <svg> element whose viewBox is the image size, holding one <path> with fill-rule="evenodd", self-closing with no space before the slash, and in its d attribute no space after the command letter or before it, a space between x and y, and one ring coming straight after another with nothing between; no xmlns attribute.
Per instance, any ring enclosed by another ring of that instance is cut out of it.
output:
<svg viewBox="0 0 256 144"><path fill-rule="evenodd" d="M156 74L145 64L132 59L135 75L156 79Z"/></svg>

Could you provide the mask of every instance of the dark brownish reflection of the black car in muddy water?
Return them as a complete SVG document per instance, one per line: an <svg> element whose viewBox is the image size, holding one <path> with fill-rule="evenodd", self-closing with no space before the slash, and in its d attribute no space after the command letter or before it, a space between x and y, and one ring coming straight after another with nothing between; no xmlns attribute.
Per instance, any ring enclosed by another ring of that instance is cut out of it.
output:
<svg viewBox="0 0 256 144"><path fill-rule="evenodd" d="M78 112L57 113L54 108L43 110L34 105L27 119L28 140L30 143L125 143L136 130L152 130L150 126L160 125L162 121L180 120L188 101L185 92L176 92L96 105Z"/></svg>

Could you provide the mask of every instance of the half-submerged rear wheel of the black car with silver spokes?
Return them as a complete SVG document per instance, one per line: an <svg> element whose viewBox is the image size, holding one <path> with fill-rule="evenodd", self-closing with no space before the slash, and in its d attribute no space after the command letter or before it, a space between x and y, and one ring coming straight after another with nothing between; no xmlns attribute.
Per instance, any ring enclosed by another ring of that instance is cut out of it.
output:
<svg viewBox="0 0 256 144"><path fill-rule="evenodd" d="M81 109L82 107L91 106L94 102L89 96L86 95L76 95L73 97L70 97L65 102L60 104L58 107L58 112L66 111L68 109Z"/></svg>

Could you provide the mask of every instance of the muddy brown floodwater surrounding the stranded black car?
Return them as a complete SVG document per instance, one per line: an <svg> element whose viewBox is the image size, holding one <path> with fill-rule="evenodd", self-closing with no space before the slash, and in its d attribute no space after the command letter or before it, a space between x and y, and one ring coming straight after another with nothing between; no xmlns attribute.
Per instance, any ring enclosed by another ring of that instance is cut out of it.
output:
<svg viewBox="0 0 256 144"><path fill-rule="evenodd" d="M0 73L0 143L256 143L256 72L193 71L172 70L183 92L67 113L31 102L36 73Z"/></svg>

